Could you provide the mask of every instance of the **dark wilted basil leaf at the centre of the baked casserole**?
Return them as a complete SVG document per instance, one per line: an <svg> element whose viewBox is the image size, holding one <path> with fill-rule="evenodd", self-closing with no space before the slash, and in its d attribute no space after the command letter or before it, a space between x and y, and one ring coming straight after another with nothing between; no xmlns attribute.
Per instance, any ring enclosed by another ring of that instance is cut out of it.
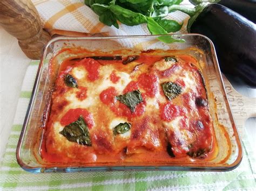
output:
<svg viewBox="0 0 256 191"><path fill-rule="evenodd" d="M143 102L142 94L140 94L139 90L130 91L124 95L116 96L116 99L127 105L132 112L135 111L137 104Z"/></svg>

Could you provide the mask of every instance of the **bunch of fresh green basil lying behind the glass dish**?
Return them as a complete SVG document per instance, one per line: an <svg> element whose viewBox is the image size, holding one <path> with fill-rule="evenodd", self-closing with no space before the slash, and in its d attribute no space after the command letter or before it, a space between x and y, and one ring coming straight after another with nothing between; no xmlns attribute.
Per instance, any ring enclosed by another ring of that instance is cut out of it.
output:
<svg viewBox="0 0 256 191"><path fill-rule="evenodd" d="M85 4L99 16L100 22L107 26L115 26L117 21L134 26L146 23L151 34L168 34L177 32L183 23L164 19L169 12L176 11L173 5L179 5L183 0L85 0ZM172 9L170 9L172 7ZM165 43L183 42L171 36L161 36L159 40Z"/></svg>

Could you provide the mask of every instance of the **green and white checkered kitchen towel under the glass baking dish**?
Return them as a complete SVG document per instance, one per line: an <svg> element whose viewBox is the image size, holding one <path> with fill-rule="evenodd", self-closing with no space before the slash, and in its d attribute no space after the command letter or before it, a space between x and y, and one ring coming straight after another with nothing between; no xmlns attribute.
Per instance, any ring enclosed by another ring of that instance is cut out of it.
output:
<svg viewBox="0 0 256 191"><path fill-rule="evenodd" d="M25 172L16 161L16 146L28 108L38 61L31 62L23 81L14 125L0 167L0 190L256 190L256 163L246 136L240 166L230 172ZM255 146L255 145L254 145Z"/></svg>

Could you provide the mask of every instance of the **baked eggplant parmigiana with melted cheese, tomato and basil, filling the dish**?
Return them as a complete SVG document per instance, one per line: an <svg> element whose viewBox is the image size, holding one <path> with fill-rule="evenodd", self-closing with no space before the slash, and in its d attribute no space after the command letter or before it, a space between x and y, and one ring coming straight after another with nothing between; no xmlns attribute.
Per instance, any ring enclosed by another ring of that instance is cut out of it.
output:
<svg viewBox="0 0 256 191"><path fill-rule="evenodd" d="M214 140L191 56L88 56L60 67L41 155L84 164L201 160Z"/></svg>

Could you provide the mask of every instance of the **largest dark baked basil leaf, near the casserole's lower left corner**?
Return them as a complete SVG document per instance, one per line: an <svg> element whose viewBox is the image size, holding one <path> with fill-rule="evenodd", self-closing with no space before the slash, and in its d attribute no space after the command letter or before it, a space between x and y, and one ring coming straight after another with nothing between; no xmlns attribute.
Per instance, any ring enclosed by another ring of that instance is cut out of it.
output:
<svg viewBox="0 0 256 191"><path fill-rule="evenodd" d="M80 116L77 121L66 125L59 133L66 137L70 142L91 146L89 130L84 122L83 116Z"/></svg>

